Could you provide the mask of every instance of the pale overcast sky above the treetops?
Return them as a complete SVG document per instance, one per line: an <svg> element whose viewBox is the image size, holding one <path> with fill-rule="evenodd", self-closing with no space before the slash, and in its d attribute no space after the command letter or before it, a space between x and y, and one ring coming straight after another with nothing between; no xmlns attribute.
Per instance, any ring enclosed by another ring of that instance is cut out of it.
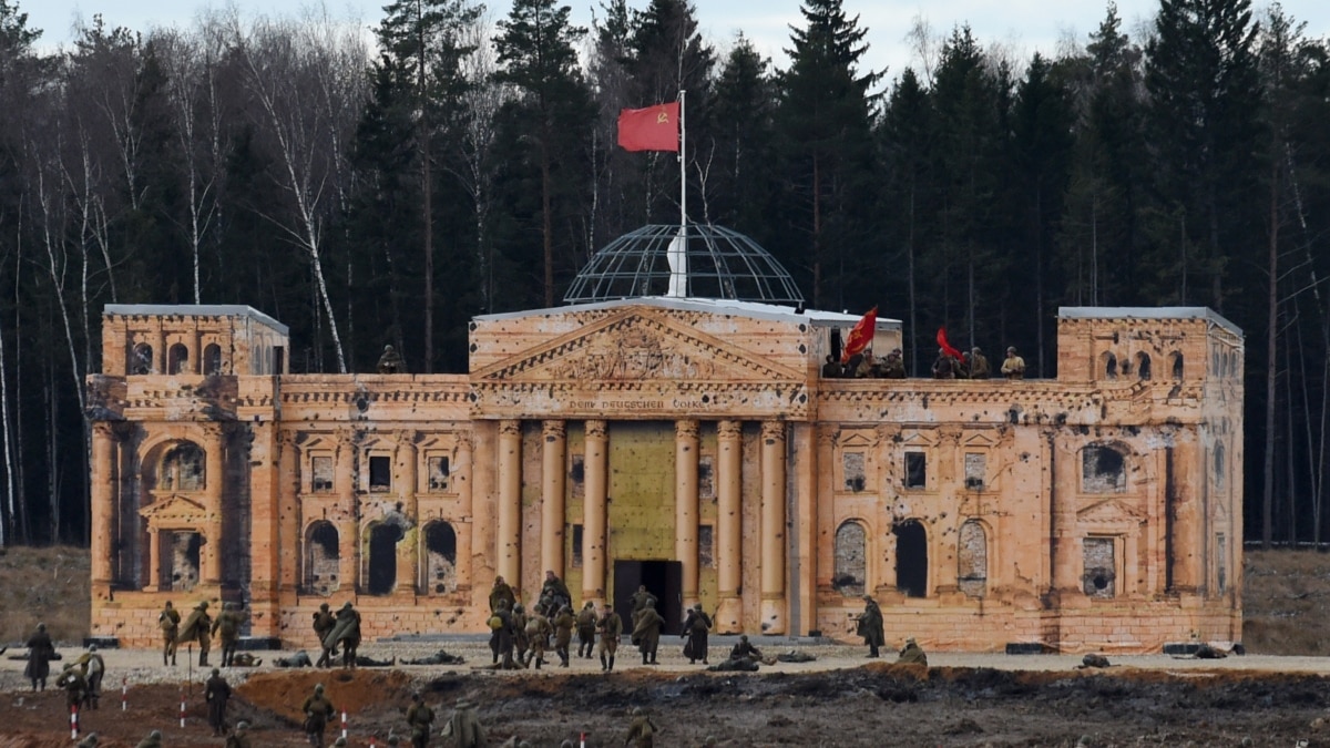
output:
<svg viewBox="0 0 1330 748"><path fill-rule="evenodd" d="M28 13L28 25L44 31L47 47L68 44L73 39L74 24L81 19L90 23L101 13L108 25L124 25L148 31L156 25L186 28L205 8L218 8L227 3L197 0L17 0L20 11ZM694 0L704 36L721 49L729 48L739 32L754 41L757 48L771 57L777 67L786 65L783 48L789 47L790 25L802 27L798 0ZM270 13L299 16L311 5L309 0L235 0L243 15ZM573 20L591 25L593 9L600 13L600 0L569 3ZM629 7L645 8L648 0L629 0ZM384 0L326 0L330 15L356 23L370 29L383 16ZM491 0L489 12L501 17L511 8L511 0ZM887 69L895 77L906 65L918 68L918 60L906 35L915 19L923 19L935 36L946 36L960 24L970 24L975 37L986 48L1000 45L1015 59L1025 60L1035 51L1056 56L1059 44L1075 40L1084 44L1087 35L1104 19L1107 0L845 0L849 16L859 16L861 28L868 29L868 53L864 64L872 69ZM1158 0L1119 0L1119 16L1124 29L1137 37L1138 24L1153 17ZM1267 3L1256 0L1253 8L1264 16ZM1285 12L1306 21L1306 35L1313 39L1330 33L1330 1L1286 0Z"/></svg>

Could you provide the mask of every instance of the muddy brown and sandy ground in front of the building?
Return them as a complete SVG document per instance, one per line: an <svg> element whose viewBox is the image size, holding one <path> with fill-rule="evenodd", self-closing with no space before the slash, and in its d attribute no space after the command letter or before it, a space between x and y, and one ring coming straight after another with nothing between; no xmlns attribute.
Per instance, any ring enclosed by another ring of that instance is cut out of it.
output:
<svg viewBox="0 0 1330 748"><path fill-rule="evenodd" d="M729 647L713 638L713 663ZM629 713L642 707L660 728L657 745L1330 745L1330 660L1230 656L1186 660L1168 656L1112 657L1108 669L1077 669L1080 657L1035 655L930 655L930 668L864 659L864 650L761 642L774 655L801 650L803 664L775 664L759 673L705 672L689 665L670 642L661 664L644 667L625 647L616 672L597 660L571 668L493 672L476 638L378 643L362 654L379 659L423 656L439 648L463 655L452 667L399 665L330 669L231 668L237 689L230 720L255 725L255 745L306 745L297 711L314 683L348 712L351 745L378 744L390 729L406 731L414 688L439 716L458 697L479 704L493 744L517 735L532 745L563 740L621 745ZM76 651L65 650L70 659ZM289 654L289 652L285 652ZM197 656L197 655L196 655ZM219 745L205 723L201 673L165 668L145 651L106 652L108 679L98 711L82 715L102 745L136 745L161 729L166 745ZM60 663L53 663L59 665ZM0 748L68 747L64 695L31 693L23 663L0 659ZM192 676L192 679L190 679ZM121 684L126 709L121 711ZM181 693L186 727L180 727ZM338 732L330 729L329 743ZM451 745L436 737L431 745Z"/></svg>

